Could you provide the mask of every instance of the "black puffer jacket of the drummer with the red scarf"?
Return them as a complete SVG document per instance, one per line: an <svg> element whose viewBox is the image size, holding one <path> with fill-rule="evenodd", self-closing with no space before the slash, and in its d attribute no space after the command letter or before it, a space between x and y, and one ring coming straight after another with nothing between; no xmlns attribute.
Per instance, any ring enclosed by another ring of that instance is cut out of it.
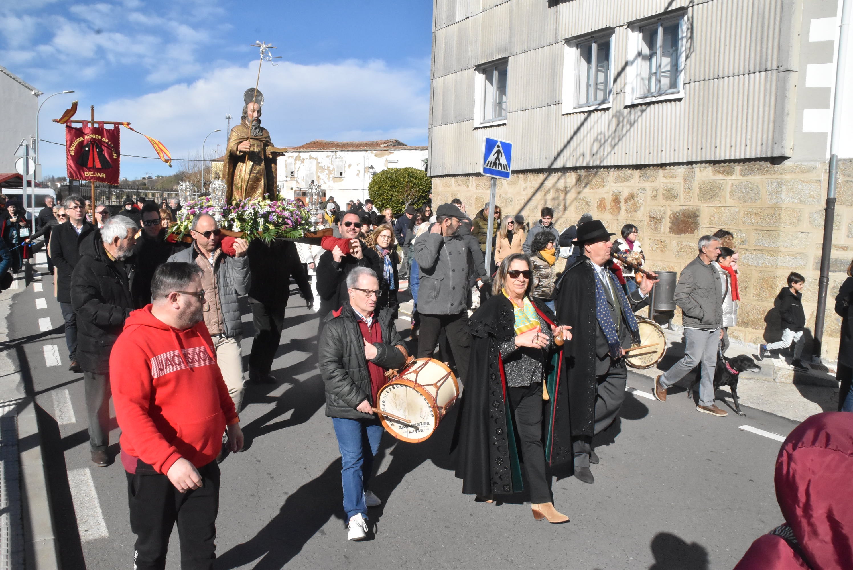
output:
<svg viewBox="0 0 853 570"><path fill-rule="evenodd" d="M384 369L403 368L406 359L396 346L405 345L397 333L390 309L379 312L379 323L382 342L374 343L377 353L372 362ZM373 398L368 361L364 356L364 337L349 302L340 311L332 311L326 317L317 352L320 374L326 385L326 416L350 420L373 418L372 414L356 410L358 404Z"/></svg>

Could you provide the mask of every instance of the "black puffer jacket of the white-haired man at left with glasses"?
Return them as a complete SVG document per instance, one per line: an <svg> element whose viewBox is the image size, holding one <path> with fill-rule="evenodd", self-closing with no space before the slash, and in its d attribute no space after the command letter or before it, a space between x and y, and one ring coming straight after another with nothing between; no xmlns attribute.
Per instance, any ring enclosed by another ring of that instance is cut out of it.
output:
<svg viewBox="0 0 853 570"><path fill-rule="evenodd" d="M107 374L109 354L133 311L125 264L109 259L101 230L80 244L71 276L71 305L77 313L77 362L87 372Z"/></svg>

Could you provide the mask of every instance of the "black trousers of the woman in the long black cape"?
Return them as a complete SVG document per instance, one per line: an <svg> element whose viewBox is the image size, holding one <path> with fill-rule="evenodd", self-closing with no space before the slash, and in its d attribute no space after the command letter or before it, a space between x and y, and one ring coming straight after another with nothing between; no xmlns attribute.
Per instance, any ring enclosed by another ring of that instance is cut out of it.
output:
<svg viewBox="0 0 853 570"><path fill-rule="evenodd" d="M509 409L521 443L521 461L525 464L532 503L550 503L545 449L542 445L542 382L528 387L508 387Z"/></svg>

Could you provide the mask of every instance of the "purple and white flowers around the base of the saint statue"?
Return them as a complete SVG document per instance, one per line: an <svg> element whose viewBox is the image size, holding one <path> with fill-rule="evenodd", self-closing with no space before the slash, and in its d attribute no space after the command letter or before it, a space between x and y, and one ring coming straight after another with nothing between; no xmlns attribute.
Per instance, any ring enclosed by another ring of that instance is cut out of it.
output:
<svg viewBox="0 0 853 570"><path fill-rule="evenodd" d="M177 224L171 233L179 237L189 234L189 225L196 214L214 215L216 208L210 196L200 196L183 205L177 212ZM275 201L252 199L237 201L225 206L219 226L225 230L241 231L248 239L259 237L270 242L276 237L299 238L311 229L311 214L301 203L277 196Z"/></svg>

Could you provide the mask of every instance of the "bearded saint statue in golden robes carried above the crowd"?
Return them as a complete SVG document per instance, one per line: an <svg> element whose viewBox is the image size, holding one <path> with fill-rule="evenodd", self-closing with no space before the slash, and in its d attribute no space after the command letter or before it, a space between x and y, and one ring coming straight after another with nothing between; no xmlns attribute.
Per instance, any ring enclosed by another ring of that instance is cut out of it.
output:
<svg viewBox="0 0 853 570"><path fill-rule="evenodd" d="M223 178L228 184L227 203L246 198L275 198L276 158L285 152L276 148L270 131L261 126L261 106L264 96L249 89L243 97L243 116L228 137Z"/></svg>

